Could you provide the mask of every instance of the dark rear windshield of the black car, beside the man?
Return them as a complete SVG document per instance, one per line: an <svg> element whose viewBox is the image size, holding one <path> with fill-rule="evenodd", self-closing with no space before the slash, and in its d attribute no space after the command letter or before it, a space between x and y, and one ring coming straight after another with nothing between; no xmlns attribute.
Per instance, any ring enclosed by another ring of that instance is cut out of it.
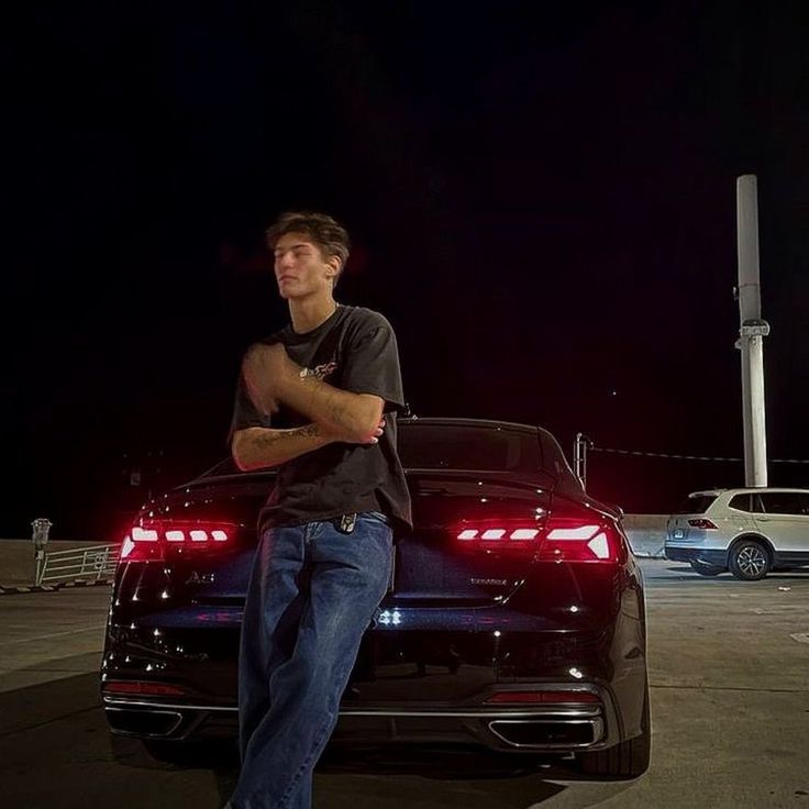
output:
<svg viewBox="0 0 809 809"><path fill-rule="evenodd" d="M452 424L400 424L399 457L406 469L539 469L535 434Z"/></svg>

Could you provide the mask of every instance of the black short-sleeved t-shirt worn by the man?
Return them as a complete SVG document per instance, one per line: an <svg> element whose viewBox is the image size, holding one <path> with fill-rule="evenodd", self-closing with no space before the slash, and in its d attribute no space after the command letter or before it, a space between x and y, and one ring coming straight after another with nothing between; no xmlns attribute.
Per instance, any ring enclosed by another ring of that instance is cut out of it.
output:
<svg viewBox="0 0 809 809"><path fill-rule="evenodd" d="M329 385L385 400L385 429L377 444L335 442L279 465L276 487L262 509L261 530L300 525L359 511L381 511L394 528L412 527L410 495L396 450L396 411L404 407L396 335L378 312L337 304L317 329L303 334L291 325L263 340L282 343L298 365ZM251 426L289 429L311 419L281 404L265 415L236 390L231 437Z"/></svg>

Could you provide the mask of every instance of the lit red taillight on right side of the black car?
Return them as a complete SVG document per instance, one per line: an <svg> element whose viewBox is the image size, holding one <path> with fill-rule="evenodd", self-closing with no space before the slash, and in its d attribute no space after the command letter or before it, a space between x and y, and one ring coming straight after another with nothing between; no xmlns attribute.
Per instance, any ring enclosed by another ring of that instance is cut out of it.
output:
<svg viewBox="0 0 809 809"><path fill-rule="evenodd" d="M468 521L455 540L469 550L538 554L556 562L618 562L621 538L616 525L597 512L551 513L528 520Z"/></svg>

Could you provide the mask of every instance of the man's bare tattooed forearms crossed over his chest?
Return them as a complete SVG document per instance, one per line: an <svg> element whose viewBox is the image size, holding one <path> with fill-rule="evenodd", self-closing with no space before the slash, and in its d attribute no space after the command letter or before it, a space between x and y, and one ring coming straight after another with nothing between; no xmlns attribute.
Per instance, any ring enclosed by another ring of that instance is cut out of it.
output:
<svg viewBox="0 0 809 809"><path fill-rule="evenodd" d="M237 430L231 452L240 469L277 466L333 442L375 444L383 434L380 397L340 390L315 377L301 377L300 370L280 344L247 352L242 373L253 403L268 413L282 402L312 423L291 430Z"/></svg>

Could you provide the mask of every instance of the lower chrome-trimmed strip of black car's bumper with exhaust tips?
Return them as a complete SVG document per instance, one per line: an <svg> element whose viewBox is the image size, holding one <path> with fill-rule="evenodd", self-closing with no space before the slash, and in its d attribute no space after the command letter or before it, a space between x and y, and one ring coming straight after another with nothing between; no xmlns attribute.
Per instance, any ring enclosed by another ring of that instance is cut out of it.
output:
<svg viewBox="0 0 809 809"><path fill-rule="evenodd" d="M569 690L569 684L542 684ZM477 743L499 752L561 754L610 747L622 723L609 689L581 684L597 702L558 705L341 706L333 743ZM520 690L525 690L524 686ZM113 733L140 739L186 741L234 738L235 706L104 697Z"/></svg>

